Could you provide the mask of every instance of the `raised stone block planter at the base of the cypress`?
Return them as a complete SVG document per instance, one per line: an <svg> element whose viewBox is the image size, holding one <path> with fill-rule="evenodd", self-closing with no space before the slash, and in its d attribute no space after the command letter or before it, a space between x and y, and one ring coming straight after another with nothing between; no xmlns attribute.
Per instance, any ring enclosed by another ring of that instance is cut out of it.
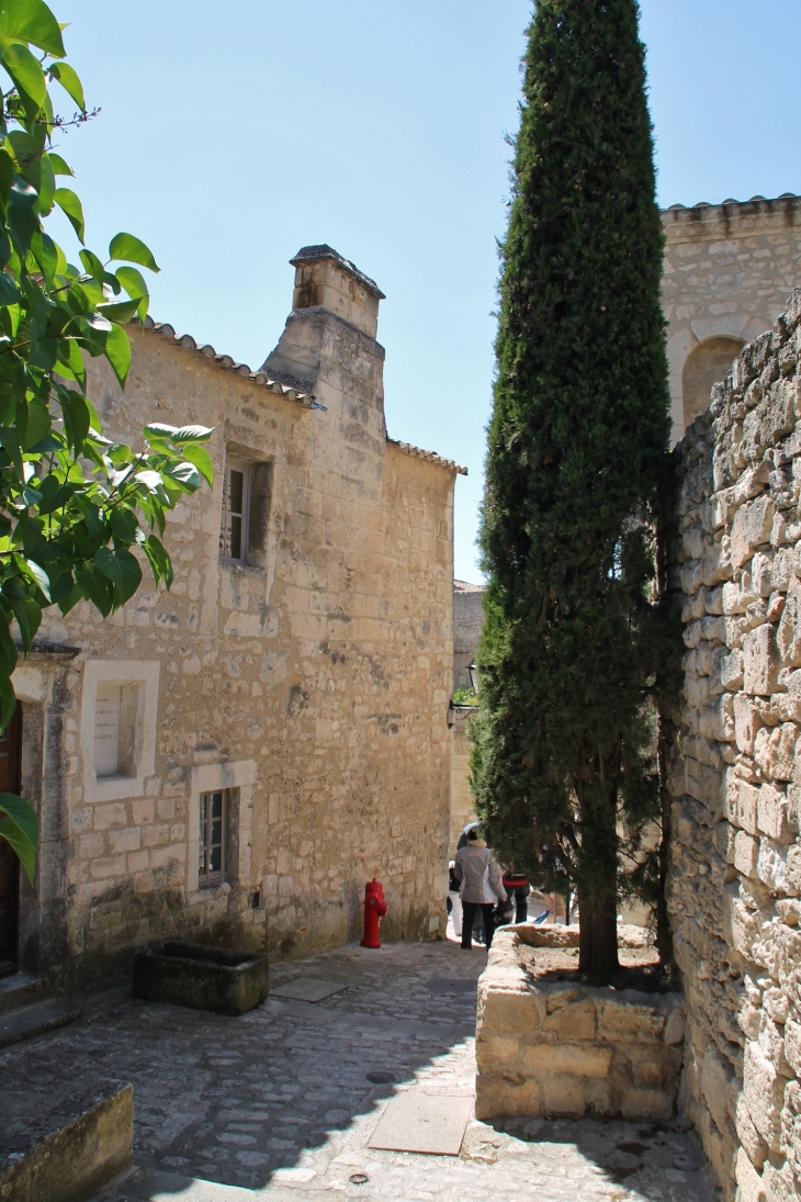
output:
<svg viewBox="0 0 801 1202"><path fill-rule="evenodd" d="M498 930L479 977L476 1117L668 1121L683 995L533 978L519 954L526 934Z"/></svg>

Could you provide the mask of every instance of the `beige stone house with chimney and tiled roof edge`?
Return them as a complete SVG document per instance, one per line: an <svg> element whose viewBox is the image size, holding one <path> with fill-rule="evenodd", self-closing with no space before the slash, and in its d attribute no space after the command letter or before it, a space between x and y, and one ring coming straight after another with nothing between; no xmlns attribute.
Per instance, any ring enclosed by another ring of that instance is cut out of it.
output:
<svg viewBox="0 0 801 1202"><path fill-rule="evenodd" d="M387 436L372 280L292 262L261 370L150 321L125 394L90 364L107 434L213 426L215 484L168 523L172 591L49 613L16 673L42 847L5 938L31 971L165 935L307 954L357 934L373 875L388 938L444 921L464 469Z"/></svg>

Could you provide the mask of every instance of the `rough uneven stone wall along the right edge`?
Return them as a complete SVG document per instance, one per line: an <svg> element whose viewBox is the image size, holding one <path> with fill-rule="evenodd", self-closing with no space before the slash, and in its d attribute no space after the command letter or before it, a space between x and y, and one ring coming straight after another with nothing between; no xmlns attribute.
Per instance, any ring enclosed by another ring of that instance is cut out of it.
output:
<svg viewBox="0 0 801 1202"><path fill-rule="evenodd" d="M800 319L795 291L675 452L682 1102L741 1202L801 1196Z"/></svg>

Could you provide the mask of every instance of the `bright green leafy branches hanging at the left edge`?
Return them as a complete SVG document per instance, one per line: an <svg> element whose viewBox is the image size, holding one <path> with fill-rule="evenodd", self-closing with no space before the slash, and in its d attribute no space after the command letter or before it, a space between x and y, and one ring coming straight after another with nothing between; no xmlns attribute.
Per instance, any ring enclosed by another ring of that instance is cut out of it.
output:
<svg viewBox="0 0 801 1202"><path fill-rule="evenodd" d="M166 514L205 478L211 430L153 423L143 447L103 435L86 394L85 358L104 358L120 387L131 364L126 325L143 321L157 272L143 242L118 233L101 257L85 244L83 207L53 136L53 89L89 115L65 61L62 26L43 0L0 0L0 731L16 706L18 642L30 651L42 611L88 600L107 617L142 583L173 569L161 542ZM44 230L56 209L80 244L79 266ZM17 638L14 637L17 635ZM22 798L0 795L0 837L32 880L38 828Z"/></svg>

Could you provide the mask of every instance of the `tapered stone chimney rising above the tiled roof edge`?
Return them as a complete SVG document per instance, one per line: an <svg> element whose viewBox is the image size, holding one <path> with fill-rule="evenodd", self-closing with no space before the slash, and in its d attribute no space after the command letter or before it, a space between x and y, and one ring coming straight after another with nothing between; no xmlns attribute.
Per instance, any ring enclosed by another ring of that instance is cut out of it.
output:
<svg viewBox="0 0 801 1202"><path fill-rule="evenodd" d="M313 392L324 405L357 401L373 415L377 410L383 440L384 349L376 332L384 293L324 244L304 246L289 262L295 269L292 313L262 370L281 383Z"/></svg>

